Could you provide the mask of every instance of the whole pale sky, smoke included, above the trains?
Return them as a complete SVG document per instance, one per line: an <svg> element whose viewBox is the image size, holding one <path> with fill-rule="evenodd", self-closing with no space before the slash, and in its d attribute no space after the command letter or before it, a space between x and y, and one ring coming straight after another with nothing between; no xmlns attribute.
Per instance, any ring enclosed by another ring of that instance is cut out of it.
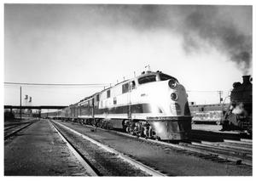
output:
<svg viewBox="0 0 256 181"><path fill-rule="evenodd" d="M5 4L4 82L115 84L150 65L189 101L218 103L252 74L252 6ZM102 86L22 86L32 105L70 105ZM4 86L4 104L20 87ZM26 104L23 100L23 104Z"/></svg>

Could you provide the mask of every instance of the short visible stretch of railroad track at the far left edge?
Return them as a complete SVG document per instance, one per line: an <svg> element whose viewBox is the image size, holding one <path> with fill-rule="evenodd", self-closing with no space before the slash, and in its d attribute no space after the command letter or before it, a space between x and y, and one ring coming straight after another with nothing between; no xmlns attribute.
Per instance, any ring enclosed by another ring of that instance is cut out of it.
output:
<svg viewBox="0 0 256 181"><path fill-rule="evenodd" d="M16 133L19 133L21 130L25 129L26 127L31 126L34 122L22 122L11 124L4 128L4 140L9 139L10 137L14 136Z"/></svg>

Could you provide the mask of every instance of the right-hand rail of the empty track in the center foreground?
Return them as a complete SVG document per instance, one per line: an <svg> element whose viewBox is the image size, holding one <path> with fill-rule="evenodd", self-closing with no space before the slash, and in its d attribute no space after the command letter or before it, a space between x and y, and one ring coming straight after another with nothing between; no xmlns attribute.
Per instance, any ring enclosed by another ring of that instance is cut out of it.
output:
<svg viewBox="0 0 256 181"><path fill-rule="evenodd" d="M55 121L53 121L55 122ZM117 150L113 150L112 148L110 148L109 146L105 145L105 144L102 144L94 139L91 139L90 137L88 136L85 136L84 134L82 133L79 133L75 130L73 130L72 128L70 127L67 127L59 122L55 122L56 124L60 125L61 127L65 127L67 130L81 136L83 139L86 139L86 140L89 140L91 143L93 144L96 144L97 146L101 147L103 150L106 150L110 153L113 153L115 156L118 156L119 158L121 158L122 160L130 163L131 165L133 165L134 167L137 167L139 168L140 170L142 170L143 172L145 173L148 173L149 175L152 175L154 177L165 177L167 176L166 174L164 173L160 173L159 171L156 171L154 170L153 168L151 167L148 167L146 165L144 165L143 163L139 162L139 161L136 161L134 159L132 159L131 157L129 156L125 156L124 154L122 154L121 152L117 151Z"/></svg>

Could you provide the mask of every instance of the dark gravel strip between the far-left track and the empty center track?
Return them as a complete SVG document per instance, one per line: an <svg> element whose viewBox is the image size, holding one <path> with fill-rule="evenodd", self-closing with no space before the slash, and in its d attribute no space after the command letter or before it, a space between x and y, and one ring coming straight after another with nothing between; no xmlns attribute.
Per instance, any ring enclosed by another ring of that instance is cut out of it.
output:
<svg viewBox="0 0 256 181"><path fill-rule="evenodd" d="M4 142L5 176L86 175L51 122L40 120Z"/></svg>

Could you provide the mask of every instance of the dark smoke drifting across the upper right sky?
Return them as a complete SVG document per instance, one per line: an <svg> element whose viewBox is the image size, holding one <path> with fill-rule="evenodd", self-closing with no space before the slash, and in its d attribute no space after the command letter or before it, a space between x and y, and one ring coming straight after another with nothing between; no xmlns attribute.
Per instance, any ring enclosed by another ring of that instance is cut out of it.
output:
<svg viewBox="0 0 256 181"><path fill-rule="evenodd" d="M244 74L252 64L251 6L104 5L98 8L102 14L108 14L113 25L129 25L142 33L165 29L181 35L187 54L203 51L207 44L228 55Z"/></svg>

